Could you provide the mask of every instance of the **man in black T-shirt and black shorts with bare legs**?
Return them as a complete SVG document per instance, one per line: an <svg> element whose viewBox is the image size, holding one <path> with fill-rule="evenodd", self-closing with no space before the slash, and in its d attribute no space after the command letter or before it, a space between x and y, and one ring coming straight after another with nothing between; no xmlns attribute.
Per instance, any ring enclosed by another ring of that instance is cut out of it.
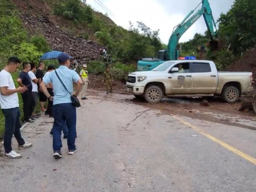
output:
<svg viewBox="0 0 256 192"><path fill-rule="evenodd" d="M44 108L44 103L47 101L47 97L45 96L45 94L42 92L42 90L40 89L40 83L42 82L43 80L43 77L44 77L44 63L43 61L39 61L38 63L38 68L36 70L36 78L38 79L38 94L39 94L39 103L40 103L40 108L41 108L41 111L42 112L45 112L45 108ZM45 115L48 115L48 114L45 114Z"/></svg>

